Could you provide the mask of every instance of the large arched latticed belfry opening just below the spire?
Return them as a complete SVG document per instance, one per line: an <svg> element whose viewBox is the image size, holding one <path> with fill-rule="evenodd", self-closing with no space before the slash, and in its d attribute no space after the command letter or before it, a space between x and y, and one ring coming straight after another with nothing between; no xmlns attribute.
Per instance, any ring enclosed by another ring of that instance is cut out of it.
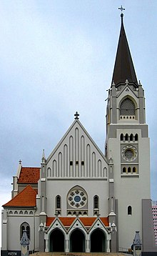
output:
<svg viewBox="0 0 157 256"><path fill-rule="evenodd" d="M121 116L134 116L135 115L135 104L129 98L126 98L121 102L120 106Z"/></svg>

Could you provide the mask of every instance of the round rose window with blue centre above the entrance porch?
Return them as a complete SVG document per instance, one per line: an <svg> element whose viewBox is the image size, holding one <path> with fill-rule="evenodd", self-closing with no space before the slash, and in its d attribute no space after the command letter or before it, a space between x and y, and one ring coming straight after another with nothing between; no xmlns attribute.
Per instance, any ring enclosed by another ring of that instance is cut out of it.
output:
<svg viewBox="0 0 157 256"><path fill-rule="evenodd" d="M87 202L87 195L80 189L74 189L69 192L68 201L72 207L81 208Z"/></svg>

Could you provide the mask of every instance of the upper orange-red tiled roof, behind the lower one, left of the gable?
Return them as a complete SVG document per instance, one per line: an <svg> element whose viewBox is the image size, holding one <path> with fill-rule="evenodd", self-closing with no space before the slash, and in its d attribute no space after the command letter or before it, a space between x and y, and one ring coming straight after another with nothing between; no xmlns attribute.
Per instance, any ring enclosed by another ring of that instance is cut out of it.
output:
<svg viewBox="0 0 157 256"><path fill-rule="evenodd" d="M21 167L18 183L37 183L40 177L39 167Z"/></svg>

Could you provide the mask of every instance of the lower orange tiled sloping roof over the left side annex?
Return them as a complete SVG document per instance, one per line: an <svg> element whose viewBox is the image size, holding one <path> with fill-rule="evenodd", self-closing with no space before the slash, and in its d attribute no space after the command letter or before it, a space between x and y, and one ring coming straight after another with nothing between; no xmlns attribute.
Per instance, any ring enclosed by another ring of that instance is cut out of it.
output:
<svg viewBox="0 0 157 256"><path fill-rule="evenodd" d="M36 191L28 185L18 195L7 202L3 207L35 207Z"/></svg>

